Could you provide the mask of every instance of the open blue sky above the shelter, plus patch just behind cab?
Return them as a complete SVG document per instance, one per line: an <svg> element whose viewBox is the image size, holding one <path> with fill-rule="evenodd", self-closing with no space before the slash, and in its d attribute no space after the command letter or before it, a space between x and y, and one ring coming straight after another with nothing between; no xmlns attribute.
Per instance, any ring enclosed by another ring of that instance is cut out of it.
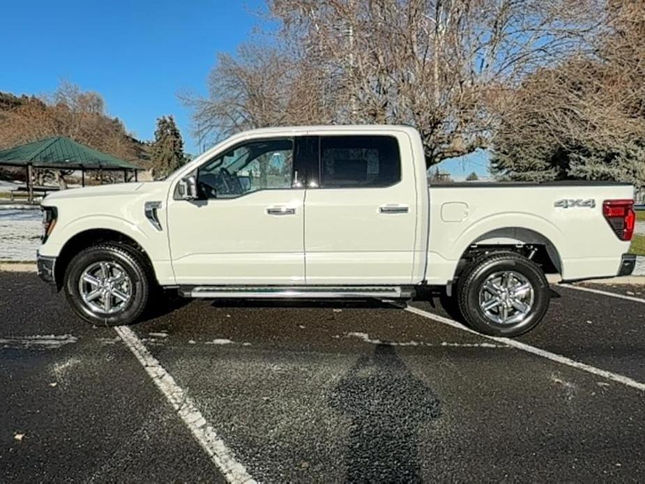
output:
<svg viewBox="0 0 645 484"><path fill-rule="evenodd" d="M152 139L175 116L188 153L199 153L177 93L206 93L217 52L234 52L259 22L263 0L9 0L0 30L0 91L52 93L61 80L97 91L111 116ZM441 164L457 178L487 174L482 156Z"/></svg>

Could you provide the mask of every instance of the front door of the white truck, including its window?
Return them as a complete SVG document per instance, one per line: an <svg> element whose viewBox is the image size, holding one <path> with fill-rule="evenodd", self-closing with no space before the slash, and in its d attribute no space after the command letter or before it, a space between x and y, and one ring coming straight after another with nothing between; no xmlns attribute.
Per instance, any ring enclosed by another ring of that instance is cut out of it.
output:
<svg viewBox="0 0 645 484"><path fill-rule="evenodd" d="M305 190L294 185L290 138L243 142L205 162L198 199L168 204L176 282L303 283Z"/></svg>

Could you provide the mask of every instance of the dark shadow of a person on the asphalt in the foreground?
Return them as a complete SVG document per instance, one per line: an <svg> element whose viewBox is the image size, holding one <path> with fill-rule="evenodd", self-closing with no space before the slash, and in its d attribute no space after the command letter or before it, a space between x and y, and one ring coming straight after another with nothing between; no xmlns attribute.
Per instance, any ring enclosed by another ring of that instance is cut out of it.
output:
<svg viewBox="0 0 645 484"><path fill-rule="evenodd" d="M422 481L418 427L439 418L441 402L392 345L358 358L328 402L351 418L347 482Z"/></svg>

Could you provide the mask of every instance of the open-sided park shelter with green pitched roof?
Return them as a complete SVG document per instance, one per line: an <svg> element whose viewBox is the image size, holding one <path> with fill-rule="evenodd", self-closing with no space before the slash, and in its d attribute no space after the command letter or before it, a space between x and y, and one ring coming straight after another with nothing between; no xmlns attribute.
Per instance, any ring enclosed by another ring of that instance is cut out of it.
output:
<svg viewBox="0 0 645 484"><path fill-rule="evenodd" d="M64 136L40 139L0 150L0 166L24 167L29 201L33 200L33 168L80 170L83 186L86 170L98 170L99 179L103 183L103 171L123 172L124 180L128 179L128 173L132 173L137 181L137 170L142 169Z"/></svg>

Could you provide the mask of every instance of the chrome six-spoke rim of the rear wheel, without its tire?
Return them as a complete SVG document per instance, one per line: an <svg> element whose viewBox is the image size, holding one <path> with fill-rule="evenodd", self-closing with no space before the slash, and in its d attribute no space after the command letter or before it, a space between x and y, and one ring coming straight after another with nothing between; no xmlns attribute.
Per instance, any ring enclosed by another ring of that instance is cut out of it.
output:
<svg viewBox="0 0 645 484"><path fill-rule="evenodd" d="M500 271L489 275L479 291L479 307L496 324L522 322L533 309L535 292L524 275Z"/></svg>

